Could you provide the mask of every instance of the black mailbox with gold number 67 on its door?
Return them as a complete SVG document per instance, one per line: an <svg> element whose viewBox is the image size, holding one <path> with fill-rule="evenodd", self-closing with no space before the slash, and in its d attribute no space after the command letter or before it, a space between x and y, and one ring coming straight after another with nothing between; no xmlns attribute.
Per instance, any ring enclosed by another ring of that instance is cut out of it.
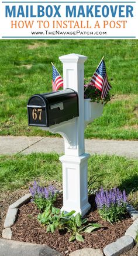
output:
<svg viewBox="0 0 138 256"><path fill-rule="evenodd" d="M33 95L27 104L29 125L49 127L78 117L78 94L73 89Z"/></svg>

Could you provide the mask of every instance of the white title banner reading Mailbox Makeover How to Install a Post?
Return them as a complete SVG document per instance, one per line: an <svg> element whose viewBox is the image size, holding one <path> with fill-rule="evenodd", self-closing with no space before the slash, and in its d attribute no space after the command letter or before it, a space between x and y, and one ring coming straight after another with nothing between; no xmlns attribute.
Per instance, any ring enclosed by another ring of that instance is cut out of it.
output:
<svg viewBox="0 0 138 256"><path fill-rule="evenodd" d="M1 1L1 39L137 39L138 1Z"/></svg>

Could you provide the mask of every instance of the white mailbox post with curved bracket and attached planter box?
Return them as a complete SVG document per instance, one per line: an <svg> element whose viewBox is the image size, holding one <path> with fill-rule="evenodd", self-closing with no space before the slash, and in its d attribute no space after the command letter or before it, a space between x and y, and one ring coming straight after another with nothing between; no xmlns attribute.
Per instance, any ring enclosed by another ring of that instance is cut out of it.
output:
<svg viewBox="0 0 138 256"><path fill-rule="evenodd" d="M91 207L88 203L87 188L89 154L85 153L84 129L85 125L102 114L103 106L91 102L90 99L84 99L84 62L87 57L68 54L60 56L59 59L63 63L64 89L70 88L78 93L79 116L42 129L61 134L64 138L64 155L60 157L63 165L61 210L75 210L83 216Z"/></svg>

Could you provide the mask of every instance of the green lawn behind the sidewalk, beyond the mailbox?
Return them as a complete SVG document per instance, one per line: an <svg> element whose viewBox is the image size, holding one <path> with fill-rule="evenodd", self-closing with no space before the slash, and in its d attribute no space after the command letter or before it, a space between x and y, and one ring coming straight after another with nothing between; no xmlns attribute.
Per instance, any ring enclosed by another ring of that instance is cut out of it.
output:
<svg viewBox="0 0 138 256"><path fill-rule="evenodd" d="M70 45L70 47L67 47ZM1 40L0 135L51 135L27 125L27 100L51 91L51 62L62 75L58 56L88 56L85 78L105 55L114 99L103 117L88 125L85 138L138 139L137 40Z"/></svg>

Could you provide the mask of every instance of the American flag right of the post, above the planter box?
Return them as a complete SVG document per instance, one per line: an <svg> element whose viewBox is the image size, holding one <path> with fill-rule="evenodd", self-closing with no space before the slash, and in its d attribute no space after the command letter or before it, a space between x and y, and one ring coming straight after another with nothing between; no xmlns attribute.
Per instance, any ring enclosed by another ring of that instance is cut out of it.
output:
<svg viewBox="0 0 138 256"><path fill-rule="evenodd" d="M98 68L96 69L93 77L91 78L91 83L101 91L101 98L105 99L111 85L108 82L108 77L106 74L105 62L102 61Z"/></svg>

